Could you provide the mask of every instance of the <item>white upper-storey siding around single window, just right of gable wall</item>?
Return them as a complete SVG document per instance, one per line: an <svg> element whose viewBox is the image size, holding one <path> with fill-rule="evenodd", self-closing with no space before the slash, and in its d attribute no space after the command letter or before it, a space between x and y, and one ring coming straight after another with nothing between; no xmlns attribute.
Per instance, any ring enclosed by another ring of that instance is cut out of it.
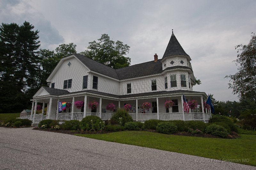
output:
<svg viewBox="0 0 256 170"><path fill-rule="evenodd" d="M98 89L92 89L93 76L98 77ZM106 77L103 77L103 76L100 76L100 75L91 74L90 75L90 89L97 90L97 91L104 92L104 93L118 95L119 82L109 79L109 78L106 78Z"/></svg>

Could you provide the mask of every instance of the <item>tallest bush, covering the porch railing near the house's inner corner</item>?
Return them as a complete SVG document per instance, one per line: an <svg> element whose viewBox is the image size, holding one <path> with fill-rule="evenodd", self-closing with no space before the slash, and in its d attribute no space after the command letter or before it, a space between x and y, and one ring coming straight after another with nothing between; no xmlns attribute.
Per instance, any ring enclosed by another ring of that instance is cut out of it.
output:
<svg viewBox="0 0 256 170"><path fill-rule="evenodd" d="M120 108L117 109L116 113L113 115L113 117L110 120L120 122L122 126L124 126L126 122L133 121L129 113L125 109L120 109Z"/></svg>

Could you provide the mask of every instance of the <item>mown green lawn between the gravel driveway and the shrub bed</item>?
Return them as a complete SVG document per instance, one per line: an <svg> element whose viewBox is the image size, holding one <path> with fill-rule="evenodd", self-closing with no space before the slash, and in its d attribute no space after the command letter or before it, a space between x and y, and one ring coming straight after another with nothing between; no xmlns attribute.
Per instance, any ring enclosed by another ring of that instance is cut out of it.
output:
<svg viewBox="0 0 256 170"><path fill-rule="evenodd" d="M240 134L241 138L237 139L164 135L147 131L76 135L218 160L241 159L241 164L256 166L256 135ZM249 159L249 162L243 162L243 159Z"/></svg>

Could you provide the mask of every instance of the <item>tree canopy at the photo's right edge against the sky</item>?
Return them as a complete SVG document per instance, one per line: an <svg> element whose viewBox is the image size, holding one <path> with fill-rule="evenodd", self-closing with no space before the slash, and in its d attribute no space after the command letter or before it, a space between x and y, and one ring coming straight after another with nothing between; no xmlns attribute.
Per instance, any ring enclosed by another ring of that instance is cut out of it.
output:
<svg viewBox="0 0 256 170"><path fill-rule="evenodd" d="M256 35L252 33L248 45L237 45L237 59L234 61L238 66L238 72L227 75L230 78L229 88L233 94L239 94L242 98L251 98L256 101Z"/></svg>

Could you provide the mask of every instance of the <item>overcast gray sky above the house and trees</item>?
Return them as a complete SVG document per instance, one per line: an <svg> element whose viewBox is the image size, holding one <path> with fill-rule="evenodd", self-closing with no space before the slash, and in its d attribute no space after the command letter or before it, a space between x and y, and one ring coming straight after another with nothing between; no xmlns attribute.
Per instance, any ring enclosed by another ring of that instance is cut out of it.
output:
<svg viewBox="0 0 256 170"><path fill-rule="evenodd" d="M194 91L238 101L226 75L235 74L235 46L256 32L256 1L0 0L0 21L38 29L42 49L74 43L77 52L108 34L129 45L131 65L162 58L172 34L192 59L202 84Z"/></svg>

